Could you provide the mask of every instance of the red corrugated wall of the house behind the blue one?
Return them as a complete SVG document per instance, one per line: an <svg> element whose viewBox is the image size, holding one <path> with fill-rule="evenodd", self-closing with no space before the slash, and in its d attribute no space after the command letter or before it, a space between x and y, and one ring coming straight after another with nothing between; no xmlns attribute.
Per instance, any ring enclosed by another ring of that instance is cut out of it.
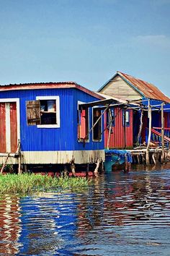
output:
<svg viewBox="0 0 170 256"><path fill-rule="evenodd" d="M133 111L130 110L130 126L125 127L124 136L124 126L122 123L122 109L115 108L115 126L112 127L112 134L109 140L109 148L130 148L133 147ZM107 117L104 116L104 127L107 126ZM107 140L109 135L109 129L104 132L104 146L107 147ZM126 143L125 143L126 137Z"/></svg>

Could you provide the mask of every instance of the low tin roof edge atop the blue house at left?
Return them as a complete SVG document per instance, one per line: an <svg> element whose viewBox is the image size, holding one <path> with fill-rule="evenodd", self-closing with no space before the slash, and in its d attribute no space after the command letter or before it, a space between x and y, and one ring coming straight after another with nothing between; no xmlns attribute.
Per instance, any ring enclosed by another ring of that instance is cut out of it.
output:
<svg viewBox="0 0 170 256"><path fill-rule="evenodd" d="M0 92L6 90L37 90L37 89L60 89L60 88L76 88L88 93L95 98L103 99L103 97L93 91L84 88L83 86L77 84L76 82L29 82L23 84L9 84L0 85Z"/></svg>

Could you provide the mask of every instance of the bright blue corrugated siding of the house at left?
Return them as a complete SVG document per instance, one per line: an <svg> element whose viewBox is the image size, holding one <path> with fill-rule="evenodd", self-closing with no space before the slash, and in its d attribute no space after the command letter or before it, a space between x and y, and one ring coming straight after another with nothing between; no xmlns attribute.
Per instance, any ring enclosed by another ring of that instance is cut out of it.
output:
<svg viewBox="0 0 170 256"><path fill-rule="evenodd" d="M37 128L27 126L26 101L33 101L36 96L59 95L61 111L60 128ZM45 89L45 90L15 90L0 92L0 98L19 98L20 103L20 135L23 151L48 150L94 150L103 149L104 142L83 143L77 141L77 101L95 101L92 97L80 90ZM91 127L91 111L90 111Z"/></svg>

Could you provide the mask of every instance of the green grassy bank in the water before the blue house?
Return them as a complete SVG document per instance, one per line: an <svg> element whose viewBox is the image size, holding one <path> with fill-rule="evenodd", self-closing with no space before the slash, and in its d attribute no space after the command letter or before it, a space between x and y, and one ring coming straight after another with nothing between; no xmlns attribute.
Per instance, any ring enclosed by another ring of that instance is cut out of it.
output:
<svg viewBox="0 0 170 256"><path fill-rule="evenodd" d="M49 189L79 189L87 187L89 180L82 177L51 177L40 174L6 174L0 175L0 195L30 194Z"/></svg>

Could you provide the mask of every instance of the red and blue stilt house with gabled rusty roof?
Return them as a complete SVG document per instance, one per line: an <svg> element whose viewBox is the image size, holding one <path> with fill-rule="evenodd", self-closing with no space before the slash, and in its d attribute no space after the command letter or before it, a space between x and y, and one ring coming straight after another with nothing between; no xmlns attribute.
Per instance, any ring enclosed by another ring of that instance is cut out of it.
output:
<svg viewBox="0 0 170 256"><path fill-rule="evenodd" d="M98 92L110 98L120 98L128 103L127 106L110 108L105 116L104 127L108 127L104 136L105 148L133 148L138 143L147 142L149 120L151 140L161 142L163 127L164 135L170 137L170 98L155 85L129 74L117 72ZM150 108L152 118L148 113ZM112 122L111 134L110 122Z"/></svg>

